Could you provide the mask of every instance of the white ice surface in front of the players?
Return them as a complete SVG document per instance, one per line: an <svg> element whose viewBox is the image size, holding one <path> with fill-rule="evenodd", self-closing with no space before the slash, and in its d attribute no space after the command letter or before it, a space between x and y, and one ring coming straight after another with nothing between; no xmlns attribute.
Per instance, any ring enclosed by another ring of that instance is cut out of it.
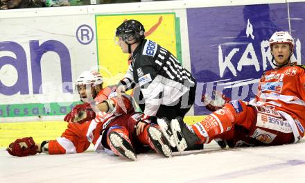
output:
<svg viewBox="0 0 305 183"><path fill-rule="evenodd" d="M284 146L141 154L130 162L92 150L12 157L0 150L0 182L304 182L305 139Z"/></svg>

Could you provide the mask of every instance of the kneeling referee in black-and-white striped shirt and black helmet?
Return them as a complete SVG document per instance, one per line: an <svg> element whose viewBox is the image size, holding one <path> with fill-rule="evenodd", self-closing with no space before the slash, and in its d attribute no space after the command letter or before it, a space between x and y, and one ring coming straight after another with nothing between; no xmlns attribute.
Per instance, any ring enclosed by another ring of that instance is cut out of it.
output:
<svg viewBox="0 0 305 183"><path fill-rule="evenodd" d="M116 44L123 53L131 53L132 62L116 89L134 92L143 115L137 129L143 132L147 123L157 119L184 118L195 101L195 78L175 56L152 40L146 40L143 25L134 19L116 28ZM136 87L137 86L137 87Z"/></svg>

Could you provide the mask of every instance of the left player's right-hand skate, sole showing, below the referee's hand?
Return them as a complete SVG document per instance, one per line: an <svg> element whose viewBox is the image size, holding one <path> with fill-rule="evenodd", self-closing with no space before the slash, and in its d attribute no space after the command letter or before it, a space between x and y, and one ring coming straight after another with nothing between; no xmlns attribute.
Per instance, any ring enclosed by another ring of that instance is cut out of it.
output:
<svg viewBox="0 0 305 183"><path fill-rule="evenodd" d="M153 146L157 153L164 155L165 157L171 157L171 146L162 134L162 132L155 126L150 125L147 128L148 137L153 143Z"/></svg>

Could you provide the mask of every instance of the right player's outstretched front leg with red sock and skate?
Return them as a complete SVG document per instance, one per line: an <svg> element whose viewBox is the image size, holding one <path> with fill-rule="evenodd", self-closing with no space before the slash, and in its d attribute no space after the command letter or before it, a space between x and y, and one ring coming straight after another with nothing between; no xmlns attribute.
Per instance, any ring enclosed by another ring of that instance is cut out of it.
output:
<svg viewBox="0 0 305 183"><path fill-rule="evenodd" d="M181 118L174 119L171 121L171 128L181 152L195 143L209 143L219 134L229 131L234 124L250 129L255 122L254 116L253 107L243 101L232 101L192 126L186 125Z"/></svg>

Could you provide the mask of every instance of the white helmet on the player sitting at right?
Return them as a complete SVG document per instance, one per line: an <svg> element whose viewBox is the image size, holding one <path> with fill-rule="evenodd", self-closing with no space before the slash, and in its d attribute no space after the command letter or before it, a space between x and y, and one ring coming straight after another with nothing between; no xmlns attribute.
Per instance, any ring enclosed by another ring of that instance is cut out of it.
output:
<svg viewBox="0 0 305 183"><path fill-rule="evenodd" d="M284 31L275 32L270 37L270 40L269 40L270 47L273 44L278 44L278 43L287 43L287 44L289 44L291 51L293 51L293 46L295 45L295 41L293 40L293 37L291 37L291 35L288 32L284 32Z"/></svg>

